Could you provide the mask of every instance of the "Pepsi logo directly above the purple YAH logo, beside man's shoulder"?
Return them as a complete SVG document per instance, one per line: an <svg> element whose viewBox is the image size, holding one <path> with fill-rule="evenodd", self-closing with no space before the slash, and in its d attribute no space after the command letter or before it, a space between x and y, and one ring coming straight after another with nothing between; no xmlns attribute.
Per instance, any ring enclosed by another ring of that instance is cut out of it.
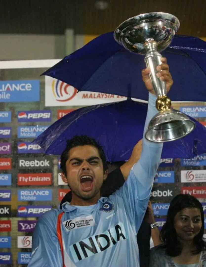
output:
<svg viewBox="0 0 206 267"><path fill-rule="evenodd" d="M40 217L43 213L51 209L51 205L18 206L18 217Z"/></svg>

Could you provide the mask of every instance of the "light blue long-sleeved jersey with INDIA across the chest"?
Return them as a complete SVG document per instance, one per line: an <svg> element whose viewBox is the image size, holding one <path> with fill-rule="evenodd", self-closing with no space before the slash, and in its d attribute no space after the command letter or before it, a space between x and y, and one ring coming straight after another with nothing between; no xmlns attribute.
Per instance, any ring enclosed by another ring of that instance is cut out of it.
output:
<svg viewBox="0 0 206 267"><path fill-rule="evenodd" d="M149 94L145 128L157 113L155 100L156 96ZM162 148L163 144L143 139L140 160L120 190L109 198L84 207L66 202L62 210L44 213L33 232L28 267L138 267L136 234L148 205Z"/></svg>

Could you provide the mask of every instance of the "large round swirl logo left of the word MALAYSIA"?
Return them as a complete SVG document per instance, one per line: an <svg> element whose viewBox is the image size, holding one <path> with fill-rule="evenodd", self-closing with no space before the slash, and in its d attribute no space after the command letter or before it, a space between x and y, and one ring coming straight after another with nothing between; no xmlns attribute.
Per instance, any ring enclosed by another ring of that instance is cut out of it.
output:
<svg viewBox="0 0 206 267"><path fill-rule="evenodd" d="M53 79L52 92L57 101L66 102L73 99L77 94L77 89L60 80Z"/></svg>

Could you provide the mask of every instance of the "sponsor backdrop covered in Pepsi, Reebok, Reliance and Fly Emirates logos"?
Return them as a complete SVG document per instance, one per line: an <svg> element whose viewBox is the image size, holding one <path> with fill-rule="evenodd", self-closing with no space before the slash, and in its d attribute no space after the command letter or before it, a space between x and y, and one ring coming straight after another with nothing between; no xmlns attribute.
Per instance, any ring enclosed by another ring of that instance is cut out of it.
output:
<svg viewBox="0 0 206 267"><path fill-rule="evenodd" d="M61 179L59 157L44 156L42 148L33 143L34 138L74 109L125 99L104 93L77 94L75 88L61 81L39 78L44 70L6 70L4 81L0 82L0 264L3 266L20 267L29 263L32 232L38 218L57 208L69 191ZM174 103L173 107L206 126L204 103ZM199 198L206 218L206 154L193 159L161 159L150 198L159 229L165 223L171 199L180 193Z"/></svg>

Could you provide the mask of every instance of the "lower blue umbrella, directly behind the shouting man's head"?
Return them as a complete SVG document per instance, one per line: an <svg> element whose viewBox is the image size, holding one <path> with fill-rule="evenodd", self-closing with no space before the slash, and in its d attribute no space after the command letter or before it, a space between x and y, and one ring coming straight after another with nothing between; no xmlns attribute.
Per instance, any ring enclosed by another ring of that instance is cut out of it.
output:
<svg viewBox="0 0 206 267"><path fill-rule="evenodd" d="M57 120L34 142L46 154L61 155L66 140L74 135L95 138L109 162L128 160L134 145L143 136L147 104L132 100L76 109ZM162 158L192 158L206 152L206 128L195 121L196 128L182 139L164 144Z"/></svg>

